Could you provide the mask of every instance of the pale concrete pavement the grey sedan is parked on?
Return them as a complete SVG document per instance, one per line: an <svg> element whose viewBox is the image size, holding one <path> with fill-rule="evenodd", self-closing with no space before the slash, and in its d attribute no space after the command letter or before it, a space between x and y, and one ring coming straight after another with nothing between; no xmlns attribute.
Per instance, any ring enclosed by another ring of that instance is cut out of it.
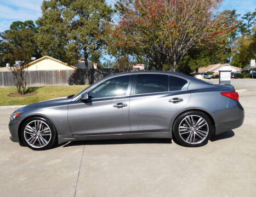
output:
<svg viewBox="0 0 256 197"><path fill-rule="evenodd" d="M240 93L243 125L200 148L171 140L109 140L38 152L9 140L15 109L0 109L0 194L256 196L256 80L240 80L235 88L248 90Z"/></svg>

